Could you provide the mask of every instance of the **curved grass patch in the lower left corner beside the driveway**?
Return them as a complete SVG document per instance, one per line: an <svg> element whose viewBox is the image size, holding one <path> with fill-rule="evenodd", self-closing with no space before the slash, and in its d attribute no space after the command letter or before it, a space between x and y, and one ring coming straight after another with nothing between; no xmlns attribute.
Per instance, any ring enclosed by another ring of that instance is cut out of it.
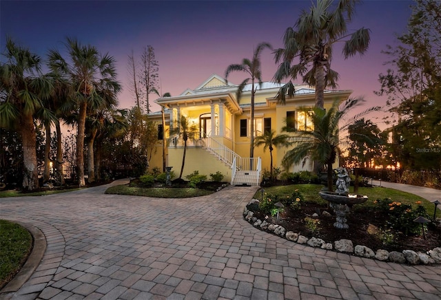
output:
<svg viewBox="0 0 441 300"><path fill-rule="evenodd" d="M0 219L0 288L17 274L32 248L32 236L20 226Z"/></svg>

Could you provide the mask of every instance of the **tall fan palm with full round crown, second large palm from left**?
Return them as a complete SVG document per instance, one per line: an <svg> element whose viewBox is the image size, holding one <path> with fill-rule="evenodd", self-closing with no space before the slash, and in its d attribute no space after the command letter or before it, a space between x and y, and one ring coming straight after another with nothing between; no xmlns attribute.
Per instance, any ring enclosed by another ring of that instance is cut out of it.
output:
<svg viewBox="0 0 441 300"><path fill-rule="evenodd" d="M58 50L50 50L49 65L54 72L66 76L74 88L72 95L79 106L76 135L76 168L79 186L84 186L84 138L85 118L90 107L100 107L107 97L115 98L121 85L116 81L115 60L102 56L95 47L81 45L76 39L68 38L65 43L70 61L66 61Z"/></svg>

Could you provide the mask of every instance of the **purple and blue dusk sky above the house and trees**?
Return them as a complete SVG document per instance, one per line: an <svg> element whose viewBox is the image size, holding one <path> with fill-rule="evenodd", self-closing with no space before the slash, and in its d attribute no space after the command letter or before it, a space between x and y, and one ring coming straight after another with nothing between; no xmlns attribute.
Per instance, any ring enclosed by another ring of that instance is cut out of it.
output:
<svg viewBox="0 0 441 300"><path fill-rule="evenodd" d="M315 1L314 1L315 2ZM406 32L412 1L365 0L356 6L349 32L371 30L371 44L364 56L346 61L336 45L331 68L340 74L338 89L352 89L363 96L365 108L384 105L378 75L387 72L387 45L398 45L396 36ZM224 76L232 63L252 58L258 43L282 47L285 30L294 26L311 1L0 1L0 47L6 36L45 58L48 50L65 50L66 37L94 45L116 59L123 85L119 107L130 108L127 55L135 58L143 47L154 47L159 65L160 92L178 96L198 87L212 74ZM1 58L3 62L4 57ZM274 55L261 56L263 80L276 72ZM229 81L239 84L245 73L234 72ZM295 83L301 83L298 79ZM155 98L154 95L150 96ZM158 110L157 105L152 109ZM376 117L378 122L380 118Z"/></svg>

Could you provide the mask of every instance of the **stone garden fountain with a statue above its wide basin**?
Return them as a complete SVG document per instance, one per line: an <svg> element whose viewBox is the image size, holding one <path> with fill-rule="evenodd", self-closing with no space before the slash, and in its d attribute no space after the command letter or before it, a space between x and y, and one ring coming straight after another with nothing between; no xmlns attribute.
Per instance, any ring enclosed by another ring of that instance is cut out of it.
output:
<svg viewBox="0 0 441 300"><path fill-rule="evenodd" d="M334 209L336 213L336 222L334 227L339 229L347 229L349 225L346 224L346 215L351 211L353 204L360 204L367 201L367 196L356 195L349 193L349 174L345 168L337 168L337 182L336 191L321 191L320 197L330 202L329 206Z"/></svg>

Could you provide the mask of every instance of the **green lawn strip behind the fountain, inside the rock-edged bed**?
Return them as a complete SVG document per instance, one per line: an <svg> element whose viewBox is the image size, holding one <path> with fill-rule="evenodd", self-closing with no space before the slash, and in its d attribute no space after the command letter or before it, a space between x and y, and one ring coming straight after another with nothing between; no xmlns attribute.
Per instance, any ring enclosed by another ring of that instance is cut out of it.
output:
<svg viewBox="0 0 441 300"><path fill-rule="evenodd" d="M265 193L271 193L273 195L278 195L279 197L287 197L288 195L291 195L291 193L298 189L302 195L305 197L305 201L307 202L319 202L320 204L327 204L327 201L322 200L320 198L320 195L318 195L318 192L321 191L322 185L320 184L291 184L287 186L269 186L265 188ZM349 192L353 193L353 186L349 189ZM356 206L353 206L354 209L367 207L367 206L375 206L373 202L378 199L384 199L384 198L391 198L391 200L396 202L401 202L403 204L411 204L414 207L416 207L418 204L416 202L421 201L422 206L426 208L427 213L429 216L433 216L433 211L435 206L429 202L428 200L425 200L424 198L413 195L411 193L398 191L395 189L387 189L384 187L360 187L358 188L358 194L359 195L367 195L369 199L367 202L363 204L357 204ZM256 194L254 194L254 198L260 200L262 197L261 191L257 191ZM441 217L440 210L437 211L437 216Z"/></svg>

